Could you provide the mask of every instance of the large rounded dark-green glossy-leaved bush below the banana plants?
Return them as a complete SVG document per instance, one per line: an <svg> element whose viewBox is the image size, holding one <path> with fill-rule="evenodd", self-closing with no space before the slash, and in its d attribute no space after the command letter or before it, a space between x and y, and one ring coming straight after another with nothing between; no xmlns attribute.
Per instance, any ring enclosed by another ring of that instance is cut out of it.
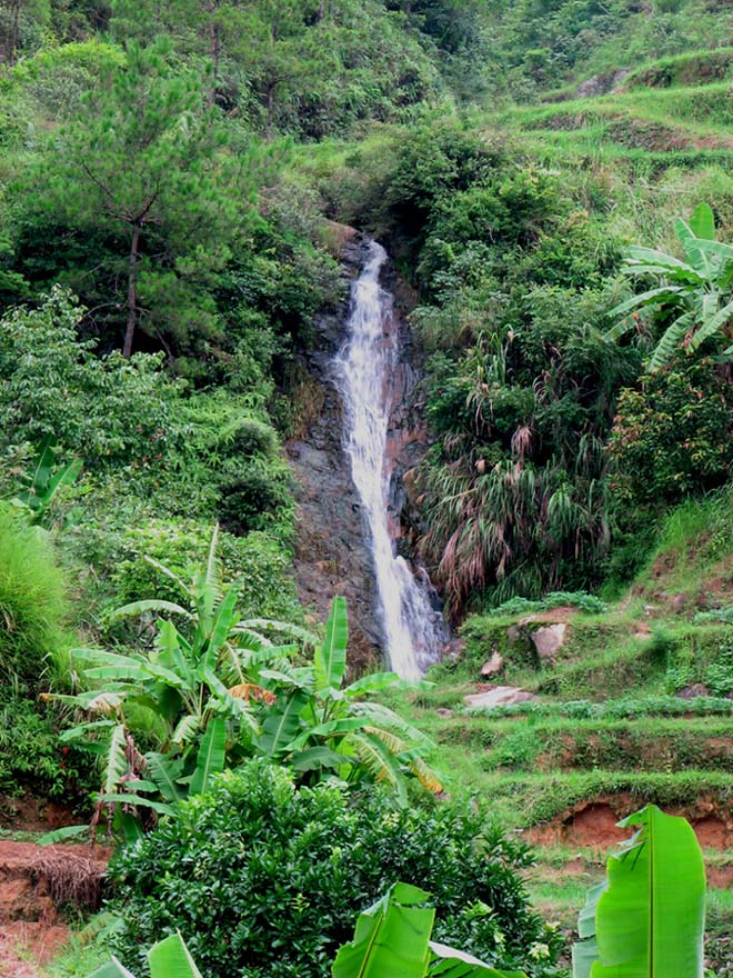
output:
<svg viewBox="0 0 733 978"><path fill-rule="evenodd" d="M556 947L518 876L529 862L473 808L295 790L287 771L250 762L118 855L116 954L134 969L143 946L179 929L212 978L321 978L354 916L401 879L433 895L435 939L506 967L548 945L541 975Z"/></svg>

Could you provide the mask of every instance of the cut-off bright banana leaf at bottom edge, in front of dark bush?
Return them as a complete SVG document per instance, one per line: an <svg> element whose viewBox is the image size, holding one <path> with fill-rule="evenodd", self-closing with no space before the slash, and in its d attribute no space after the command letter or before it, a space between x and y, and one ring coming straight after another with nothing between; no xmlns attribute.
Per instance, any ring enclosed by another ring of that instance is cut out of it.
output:
<svg viewBox="0 0 733 978"><path fill-rule="evenodd" d="M395 884L359 917L353 940L339 949L332 978L525 978L431 941L435 911L425 906L428 899L418 887Z"/></svg>

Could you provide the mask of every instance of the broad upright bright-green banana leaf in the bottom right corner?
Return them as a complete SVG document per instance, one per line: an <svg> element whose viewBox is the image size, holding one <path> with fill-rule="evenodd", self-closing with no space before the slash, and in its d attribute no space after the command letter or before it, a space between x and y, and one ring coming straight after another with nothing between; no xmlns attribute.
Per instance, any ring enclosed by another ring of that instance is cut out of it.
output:
<svg viewBox="0 0 733 978"><path fill-rule="evenodd" d="M608 862L579 919L573 978L702 978L705 868L684 818L655 805Z"/></svg>

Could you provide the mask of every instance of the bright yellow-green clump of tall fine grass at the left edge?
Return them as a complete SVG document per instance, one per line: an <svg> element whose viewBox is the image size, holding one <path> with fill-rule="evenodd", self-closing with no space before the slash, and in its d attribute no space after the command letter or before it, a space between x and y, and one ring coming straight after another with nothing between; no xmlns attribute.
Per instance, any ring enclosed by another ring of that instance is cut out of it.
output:
<svg viewBox="0 0 733 978"><path fill-rule="evenodd" d="M0 676L33 692L59 672L67 642L64 576L44 531L0 505Z"/></svg>

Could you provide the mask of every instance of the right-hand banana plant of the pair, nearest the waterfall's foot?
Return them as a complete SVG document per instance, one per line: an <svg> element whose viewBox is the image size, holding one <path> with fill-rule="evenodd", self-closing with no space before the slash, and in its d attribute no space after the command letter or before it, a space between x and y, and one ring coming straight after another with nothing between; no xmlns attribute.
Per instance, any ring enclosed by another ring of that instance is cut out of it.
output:
<svg viewBox="0 0 733 978"><path fill-rule="evenodd" d="M365 699L390 688L415 688L395 672L375 672L344 683L349 620L344 598L337 597L315 649L311 670L293 677L264 720L259 749L280 758L313 781L338 774L354 782L389 784L402 800L405 778L415 777L428 790L443 786L426 758L433 742L382 703Z"/></svg>

